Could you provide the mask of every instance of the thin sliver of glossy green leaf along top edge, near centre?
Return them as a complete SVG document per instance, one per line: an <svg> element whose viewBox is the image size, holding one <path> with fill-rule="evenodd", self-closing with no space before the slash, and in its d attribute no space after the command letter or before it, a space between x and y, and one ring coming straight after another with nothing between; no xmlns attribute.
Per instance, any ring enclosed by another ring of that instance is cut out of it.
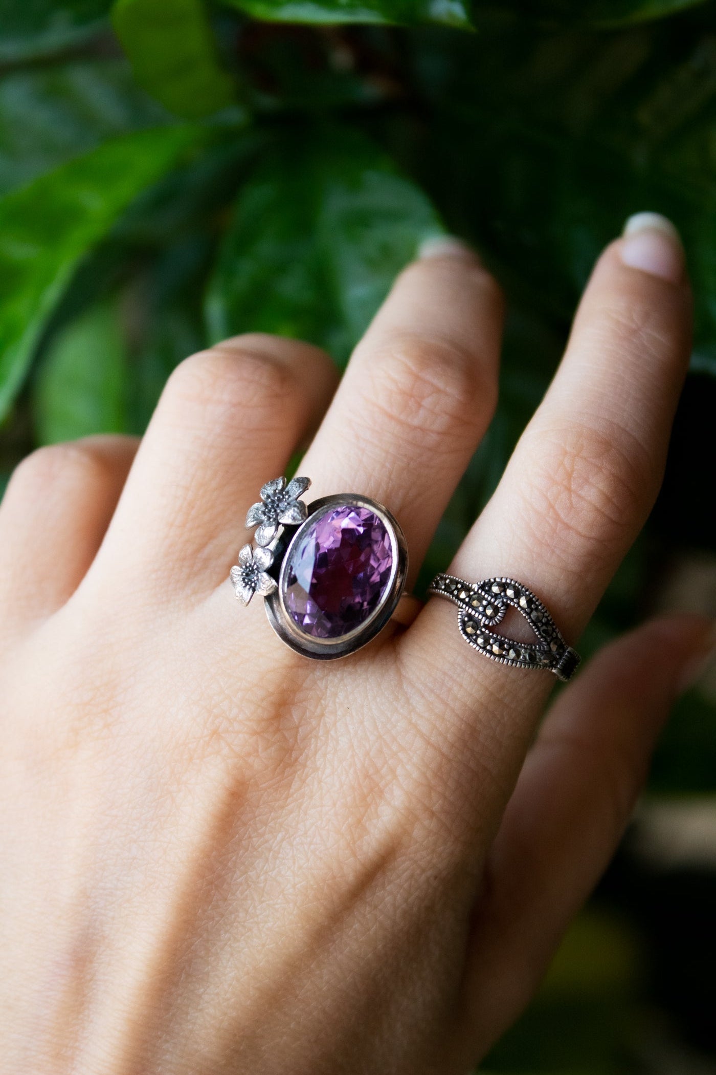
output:
<svg viewBox="0 0 716 1075"><path fill-rule="evenodd" d="M470 0L223 0L276 23L441 23L469 29Z"/></svg>

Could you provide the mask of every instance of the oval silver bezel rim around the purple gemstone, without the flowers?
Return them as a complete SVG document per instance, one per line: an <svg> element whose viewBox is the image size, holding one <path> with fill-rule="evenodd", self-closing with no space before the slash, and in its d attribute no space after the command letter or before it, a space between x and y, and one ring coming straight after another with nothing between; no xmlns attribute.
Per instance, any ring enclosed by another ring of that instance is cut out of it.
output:
<svg viewBox="0 0 716 1075"><path fill-rule="evenodd" d="M337 639L317 639L305 634L295 622L284 604L286 579L291 562L291 553L302 541L306 530L316 521L318 515L323 515L334 507L354 505L372 512L383 524L391 541L393 563L385 591L370 616L348 634ZM382 631L393 615L403 594L408 572L408 547L405 534L394 516L375 500L355 492L341 492L333 497L321 497L308 505L308 516L292 534L282 554L281 569L277 589L265 599L266 615L279 639L304 657L315 660L335 660L348 657L361 649Z"/></svg>

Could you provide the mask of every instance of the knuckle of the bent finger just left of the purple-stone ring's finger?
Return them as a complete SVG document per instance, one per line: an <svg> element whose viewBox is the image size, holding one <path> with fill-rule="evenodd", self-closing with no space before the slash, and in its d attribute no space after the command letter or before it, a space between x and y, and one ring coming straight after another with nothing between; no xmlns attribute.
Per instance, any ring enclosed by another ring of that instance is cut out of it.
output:
<svg viewBox="0 0 716 1075"><path fill-rule="evenodd" d="M182 412L193 410L202 418L240 412L244 424L265 426L273 412L284 408L294 387L286 362L238 338L230 348L211 347L185 359L164 393ZM276 420L281 420L278 414Z"/></svg>

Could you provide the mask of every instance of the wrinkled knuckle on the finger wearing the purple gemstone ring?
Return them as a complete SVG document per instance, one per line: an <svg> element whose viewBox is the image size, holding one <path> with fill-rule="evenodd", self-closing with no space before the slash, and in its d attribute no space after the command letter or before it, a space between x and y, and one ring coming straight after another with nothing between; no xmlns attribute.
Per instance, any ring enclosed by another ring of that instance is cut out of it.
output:
<svg viewBox="0 0 716 1075"><path fill-rule="evenodd" d="M476 356L444 340L400 334L369 355L366 369L372 406L427 436L432 449L444 450L445 433L454 439L486 421L496 403L496 386Z"/></svg>

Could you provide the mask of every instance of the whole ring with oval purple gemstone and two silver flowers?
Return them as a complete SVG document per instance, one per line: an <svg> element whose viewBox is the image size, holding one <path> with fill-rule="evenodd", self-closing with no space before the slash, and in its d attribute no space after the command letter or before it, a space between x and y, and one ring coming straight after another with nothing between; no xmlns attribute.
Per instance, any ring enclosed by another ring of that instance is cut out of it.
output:
<svg viewBox="0 0 716 1075"><path fill-rule="evenodd" d="M257 527L231 569L236 597L265 598L279 639L304 657L332 660L370 642L391 619L421 607L404 594L408 549L386 507L359 493L306 505L307 477L267 482L246 517Z"/></svg>

